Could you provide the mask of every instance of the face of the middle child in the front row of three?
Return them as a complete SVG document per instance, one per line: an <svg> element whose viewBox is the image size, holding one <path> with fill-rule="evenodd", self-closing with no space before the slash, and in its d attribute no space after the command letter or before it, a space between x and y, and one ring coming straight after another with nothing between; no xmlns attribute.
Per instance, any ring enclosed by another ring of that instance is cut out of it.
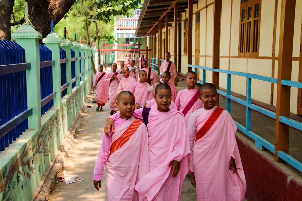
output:
<svg viewBox="0 0 302 201"><path fill-rule="evenodd" d="M171 105L171 101L172 101L171 90L158 89L157 94L154 95L154 99L156 101L158 111L167 112L170 110L169 106Z"/></svg>

